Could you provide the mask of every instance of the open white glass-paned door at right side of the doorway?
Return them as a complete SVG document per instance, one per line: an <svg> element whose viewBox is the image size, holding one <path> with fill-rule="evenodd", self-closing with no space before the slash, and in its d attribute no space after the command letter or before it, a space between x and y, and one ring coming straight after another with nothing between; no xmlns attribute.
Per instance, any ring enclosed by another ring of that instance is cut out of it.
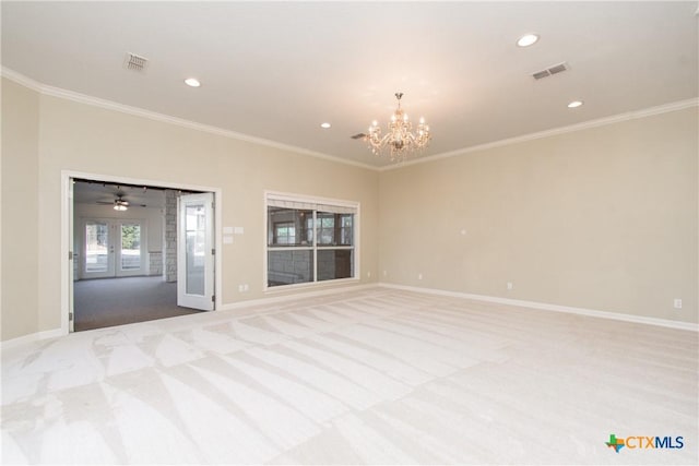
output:
<svg viewBox="0 0 699 466"><path fill-rule="evenodd" d="M214 309L214 195L178 199L177 306Z"/></svg>

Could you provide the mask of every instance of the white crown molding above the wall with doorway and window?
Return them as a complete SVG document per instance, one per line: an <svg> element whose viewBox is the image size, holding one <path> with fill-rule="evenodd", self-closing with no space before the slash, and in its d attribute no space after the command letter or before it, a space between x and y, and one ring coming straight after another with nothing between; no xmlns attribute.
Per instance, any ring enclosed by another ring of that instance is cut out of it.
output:
<svg viewBox="0 0 699 466"><path fill-rule="evenodd" d="M345 160L341 157L337 156L333 156L333 155L328 155L328 154L322 154L319 152L315 152L315 151L309 151L307 148L303 148L303 147L297 147L294 145L288 145L288 144L283 144L283 143L279 143L275 141L271 141L271 140L266 140L263 138L257 138L257 136L251 136L248 134L244 134L244 133L238 133L235 131L230 131L230 130L225 130L223 128L218 128L218 127L213 127L210 124L202 124L202 123L198 123L196 121L190 121L190 120L185 120L182 118L177 118L177 117L170 117L168 115L164 115L164 113L158 113L155 111L151 111L151 110L145 110L142 108L138 108L138 107L131 107L128 105L122 105L122 104L118 104L116 101L112 100L106 100L106 99L102 99L98 97L93 97L86 94L80 94L73 91L67 91L60 87L54 87L54 86L49 86L43 83L39 83L38 81L35 81L31 77L27 77L21 73L17 73L14 70L11 70L9 68L2 67L1 68L1 72L0 74L3 77L7 77L11 81L14 81L17 84L23 85L24 87L28 87L32 91L35 91L42 95L47 95L47 96L51 96L51 97L58 97L58 98L62 98L66 100L72 100L72 101L76 101L80 104L85 104L85 105L90 105L93 107L98 107L98 108L104 108L107 110L114 110L114 111L119 111L122 113L128 113L128 115L132 115L135 117L141 117L141 118L147 118L150 120L154 120L154 121L159 121L159 122L164 122L164 123L169 123L169 124L174 124L177 127L181 127L181 128L187 128L190 130L196 130L196 131L202 131L205 133L210 133L210 134L215 134L215 135L220 135L220 136L224 136L224 138L229 138L229 139L234 139L237 141L244 141L244 142L249 142L252 144L259 144L259 145L264 145L268 147L273 147L273 148L277 148L281 151L287 151L287 152L293 152L296 154L301 154L301 155L308 155L311 157L316 157L316 158L321 158L323 160L329 160L329 162L334 162L337 164L344 164L344 165L351 165L354 167L358 167L358 168L364 168L364 169L368 169L368 170L372 170L372 171L377 171L378 167L371 166L371 165L367 165L367 164L363 164L360 162L354 162L354 160Z"/></svg>

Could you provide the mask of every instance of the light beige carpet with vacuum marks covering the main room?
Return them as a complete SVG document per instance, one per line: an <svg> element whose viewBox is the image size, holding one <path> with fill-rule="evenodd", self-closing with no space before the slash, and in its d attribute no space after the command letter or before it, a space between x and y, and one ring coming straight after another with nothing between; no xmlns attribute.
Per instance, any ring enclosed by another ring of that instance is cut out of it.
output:
<svg viewBox="0 0 699 466"><path fill-rule="evenodd" d="M697 464L697 339L381 288L81 332L3 351L2 462Z"/></svg>

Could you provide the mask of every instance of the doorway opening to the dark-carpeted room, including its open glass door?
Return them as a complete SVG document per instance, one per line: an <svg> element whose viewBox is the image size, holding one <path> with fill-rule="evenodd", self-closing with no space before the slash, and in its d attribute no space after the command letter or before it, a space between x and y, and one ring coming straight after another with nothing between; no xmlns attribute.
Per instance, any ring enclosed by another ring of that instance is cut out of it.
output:
<svg viewBox="0 0 699 466"><path fill-rule="evenodd" d="M215 191L67 181L68 331L214 310Z"/></svg>

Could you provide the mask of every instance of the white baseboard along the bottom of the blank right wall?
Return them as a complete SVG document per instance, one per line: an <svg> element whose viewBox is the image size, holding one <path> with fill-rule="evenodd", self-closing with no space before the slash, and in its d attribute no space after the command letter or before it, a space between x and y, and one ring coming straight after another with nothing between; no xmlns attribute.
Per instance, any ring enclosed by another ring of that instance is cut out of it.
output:
<svg viewBox="0 0 699 466"><path fill-rule="evenodd" d="M435 288L420 288L416 286L394 285L389 283L379 283L382 288L401 289L404 291L425 292L429 295L448 296L451 298L474 299L478 301L497 302L499 304L518 306L522 308L541 309L543 311L566 312L570 314L588 315L591 318L612 319L616 321L632 322L638 324L657 325L668 328L686 330L690 332L699 332L699 324L690 322L671 321L667 319L647 318L643 315L625 314L620 312L597 311L594 309L573 308L570 306L549 304L546 302L523 301L519 299L498 298L496 296L472 295L469 292L447 291Z"/></svg>

